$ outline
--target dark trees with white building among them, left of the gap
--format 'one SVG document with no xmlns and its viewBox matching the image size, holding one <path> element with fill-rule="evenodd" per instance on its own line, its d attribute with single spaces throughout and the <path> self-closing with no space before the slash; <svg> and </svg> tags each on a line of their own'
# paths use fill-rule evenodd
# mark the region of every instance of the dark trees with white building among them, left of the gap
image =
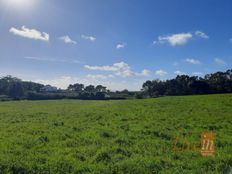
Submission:
<svg viewBox="0 0 232 174">
<path fill-rule="evenodd" d="M 51 90 L 53 89 L 53 90 Z M 46 99 L 107 99 L 110 91 L 102 85 L 70 84 L 67 89 L 57 89 L 50 85 L 22 81 L 5 76 L 0 78 L 0 100 L 46 100 Z"/>
</svg>

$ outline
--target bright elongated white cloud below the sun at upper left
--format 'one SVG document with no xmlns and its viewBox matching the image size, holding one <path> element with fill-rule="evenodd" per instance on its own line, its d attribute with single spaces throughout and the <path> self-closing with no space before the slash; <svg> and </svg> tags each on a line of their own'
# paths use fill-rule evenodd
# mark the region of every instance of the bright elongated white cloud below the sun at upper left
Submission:
<svg viewBox="0 0 232 174">
<path fill-rule="evenodd" d="M 25 26 L 22 26 L 21 29 L 17 28 L 10 28 L 10 33 L 13 33 L 14 35 L 29 38 L 29 39 L 35 39 L 35 40 L 42 40 L 42 41 L 49 41 L 49 34 L 45 32 L 40 32 L 36 29 L 29 29 Z"/>
</svg>

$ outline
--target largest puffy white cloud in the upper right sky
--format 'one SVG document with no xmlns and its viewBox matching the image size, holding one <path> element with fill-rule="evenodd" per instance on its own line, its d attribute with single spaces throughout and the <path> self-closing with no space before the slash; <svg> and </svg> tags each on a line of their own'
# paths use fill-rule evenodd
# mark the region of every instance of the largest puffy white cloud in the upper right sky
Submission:
<svg viewBox="0 0 232 174">
<path fill-rule="evenodd" d="M 191 33 L 178 33 L 168 36 L 159 36 L 158 41 L 154 41 L 153 44 L 157 43 L 169 43 L 171 46 L 185 45 L 193 35 Z"/>
</svg>

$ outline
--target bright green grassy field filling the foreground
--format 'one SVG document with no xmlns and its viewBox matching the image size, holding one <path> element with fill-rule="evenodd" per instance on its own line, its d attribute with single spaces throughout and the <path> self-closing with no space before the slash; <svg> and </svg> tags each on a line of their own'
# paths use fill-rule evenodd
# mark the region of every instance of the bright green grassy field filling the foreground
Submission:
<svg viewBox="0 0 232 174">
<path fill-rule="evenodd" d="M 215 133 L 214 157 L 188 149 Z M 179 137 L 174 152 L 173 144 Z M 232 172 L 232 95 L 0 102 L 0 173 Z"/>
</svg>

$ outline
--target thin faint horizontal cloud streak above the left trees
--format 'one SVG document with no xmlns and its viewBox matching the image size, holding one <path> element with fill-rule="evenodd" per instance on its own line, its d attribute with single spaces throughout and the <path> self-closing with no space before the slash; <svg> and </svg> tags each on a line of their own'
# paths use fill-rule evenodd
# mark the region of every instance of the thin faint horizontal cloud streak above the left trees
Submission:
<svg viewBox="0 0 232 174">
<path fill-rule="evenodd" d="M 76 63 L 82 64 L 83 62 L 79 60 L 70 60 L 70 59 L 57 59 L 57 58 L 48 58 L 48 57 L 24 57 L 24 59 L 34 60 L 34 61 L 45 61 L 45 62 L 58 62 L 58 63 Z"/>
</svg>

